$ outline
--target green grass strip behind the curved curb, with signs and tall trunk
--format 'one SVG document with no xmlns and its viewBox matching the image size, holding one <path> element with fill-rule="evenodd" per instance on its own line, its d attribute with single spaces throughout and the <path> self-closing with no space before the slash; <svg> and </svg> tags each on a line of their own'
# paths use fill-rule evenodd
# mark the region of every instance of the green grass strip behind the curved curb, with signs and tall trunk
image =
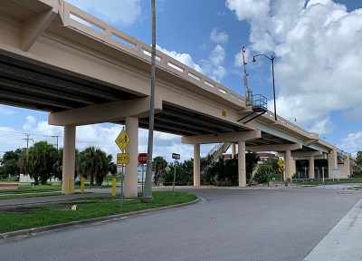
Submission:
<svg viewBox="0 0 362 261">
<path fill-rule="evenodd" d="M 155 200 L 150 203 L 141 203 L 140 198 L 124 200 L 123 208 L 120 208 L 120 198 L 111 196 L 77 198 L 74 199 L 76 201 L 52 205 L 0 208 L 0 233 L 167 207 L 197 198 L 191 193 L 175 192 L 175 198 L 172 199 L 172 191 L 154 191 L 152 196 Z M 77 210 L 71 210 L 73 205 L 77 205 Z"/>
</svg>

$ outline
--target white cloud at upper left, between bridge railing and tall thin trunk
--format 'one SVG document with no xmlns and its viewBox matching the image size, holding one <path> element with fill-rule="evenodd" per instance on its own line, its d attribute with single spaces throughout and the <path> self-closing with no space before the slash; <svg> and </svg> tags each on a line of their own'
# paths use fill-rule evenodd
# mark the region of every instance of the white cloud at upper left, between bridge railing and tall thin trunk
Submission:
<svg viewBox="0 0 362 261">
<path fill-rule="evenodd" d="M 110 24 L 134 24 L 141 17 L 141 0 L 68 0 L 71 5 L 83 9 Z"/>
</svg>

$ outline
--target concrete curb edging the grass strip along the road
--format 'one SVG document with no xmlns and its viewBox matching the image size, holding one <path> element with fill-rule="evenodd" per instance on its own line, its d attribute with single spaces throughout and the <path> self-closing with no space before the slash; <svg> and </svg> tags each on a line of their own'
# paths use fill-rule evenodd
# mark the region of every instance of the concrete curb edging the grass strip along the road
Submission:
<svg viewBox="0 0 362 261">
<path fill-rule="evenodd" d="M 62 224 L 56 224 L 56 225 L 50 225 L 50 226 L 44 226 L 44 227 L 33 227 L 33 228 L 27 228 L 27 229 L 23 229 L 23 230 L 5 232 L 5 233 L 0 234 L 0 244 L 5 243 L 6 241 L 10 241 L 10 240 L 16 240 L 16 238 L 22 239 L 24 237 L 35 237 L 38 234 L 58 231 L 58 230 L 67 229 L 70 227 L 86 226 L 89 224 L 94 224 L 94 223 L 99 223 L 99 222 L 118 221 L 123 218 L 137 217 L 137 216 L 141 216 L 141 215 L 145 215 L 145 214 L 153 213 L 153 212 L 157 212 L 157 211 L 164 211 L 164 210 L 172 209 L 172 208 L 182 208 L 182 207 L 194 205 L 194 204 L 200 202 L 201 199 L 202 198 L 198 197 L 194 201 L 181 203 L 181 204 L 177 204 L 177 205 L 172 205 L 172 206 L 167 206 L 167 207 L 149 208 L 149 209 L 145 209 L 145 210 L 117 214 L 117 215 L 112 215 L 112 216 L 107 216 L 107 217 L 90 218 L 90 219 L 72 221 L 72 222 L 68 222 L 68 223 L 62 223 Z"/>
</svg>

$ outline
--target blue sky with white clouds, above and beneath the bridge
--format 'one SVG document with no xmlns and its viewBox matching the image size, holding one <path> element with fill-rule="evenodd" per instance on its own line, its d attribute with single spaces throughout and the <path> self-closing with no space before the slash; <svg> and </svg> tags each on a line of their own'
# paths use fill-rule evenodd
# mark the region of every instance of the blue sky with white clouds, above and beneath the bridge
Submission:
<svg viewBox="0 0 362 261">
<path fill-rule="evenodd" d="M 144 43 L 151 43 L 146 0 L 69 0 Z M 156 0 L 157 49 L 244 95 L 242 45 L 248 85 L 276 111 L 338 149 L 362 150 L 362 1 L 359 0 Z M 157 75 L 156 75 L 157 77 Z M 0 105 L 0 156 L 48 140 L 62 147 L 63 130 L 48 114 Z M 296 119 L 296 121 L 294 120 Z M 122 126 L 77 127 L 76 147 L 96 146 L 113 155 Z M 32 134 L 26 136 L 25 134 Z M 35 135 L 36 134 L 36 135 Z M 138 152 L 147 152 L 148 131 L 139 130 Z M 26 138 L 32 140 L 24 140 Z M 193 146 L 176 135 L 155 132 L 153 156 L 193 158 Z M 201 156 L 213 144 L 201 146 Z"/>
</svg>

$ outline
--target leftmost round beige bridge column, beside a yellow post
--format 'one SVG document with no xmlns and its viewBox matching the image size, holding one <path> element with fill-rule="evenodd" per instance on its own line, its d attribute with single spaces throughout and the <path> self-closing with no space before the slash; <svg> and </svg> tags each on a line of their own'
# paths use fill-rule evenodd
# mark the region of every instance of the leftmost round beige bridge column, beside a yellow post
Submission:
<svg viewBox="0 0 362 261">
<path fill-rule="evenodd" d="M 75 125 L 64 126 L 64 144 L 62 153 L 62 194 L 68 194 L 68 182 L 71 180 L 71 194 L 74 193 L 75 169 Z"/>
</svg>

